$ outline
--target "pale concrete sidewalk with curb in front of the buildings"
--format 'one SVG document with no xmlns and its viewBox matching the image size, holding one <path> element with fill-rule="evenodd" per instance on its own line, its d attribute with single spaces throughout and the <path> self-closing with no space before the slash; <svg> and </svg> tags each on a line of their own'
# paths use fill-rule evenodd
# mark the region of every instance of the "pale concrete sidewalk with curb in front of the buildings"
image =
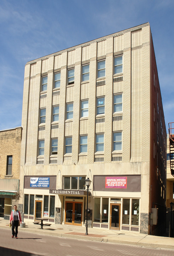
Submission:
<svg viewBox="0 0 174 256">
<path fill-rule="evenodd" d="M 47 226 L 43 226 L 43 229 L 41 229 L 40 225 L 35 225 L 33 222 L 26 221 L 25 223 L 25 228 L 19 227 L 19 234 L 20 231 L 26 231 L 43 235 L 174 250 L 174 238 L 172 237 L 152 236 L 137 232 L 97 228 L 88 228 L 88 235 L 85 235 L 86 228 L 84 226 L 51 224 L 49 228 Z M 0 218 L 0 228 L 10 229 L 9 220 Z"/>
</svg>

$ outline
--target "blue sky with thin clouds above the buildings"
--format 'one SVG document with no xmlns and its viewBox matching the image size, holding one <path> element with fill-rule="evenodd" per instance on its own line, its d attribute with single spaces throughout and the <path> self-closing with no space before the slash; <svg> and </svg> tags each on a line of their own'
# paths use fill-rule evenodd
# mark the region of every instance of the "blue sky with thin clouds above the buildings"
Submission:
<svg viewBox="0 0 174 256">
<path fill-rule="evenodd" d="M 0 130 L 21 126 L 28 61 L 146 22 L 168 132 L 174 122 L 174 0 L 0 0 Z"/>
</svg>

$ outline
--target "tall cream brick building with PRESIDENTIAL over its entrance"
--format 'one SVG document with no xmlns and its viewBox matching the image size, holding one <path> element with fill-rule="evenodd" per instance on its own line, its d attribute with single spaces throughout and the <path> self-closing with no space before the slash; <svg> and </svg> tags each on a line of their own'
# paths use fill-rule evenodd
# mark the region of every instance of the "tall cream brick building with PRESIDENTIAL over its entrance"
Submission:
<svg viewBox="0 0 174 256">
<path fill-rule="evenodd" d="M 85 225 L 89 177 L 89 226 L 162 230 L 166 130 L 149 23 L 28 62 L 22 127 L 25 219 Z"/>
</svg>

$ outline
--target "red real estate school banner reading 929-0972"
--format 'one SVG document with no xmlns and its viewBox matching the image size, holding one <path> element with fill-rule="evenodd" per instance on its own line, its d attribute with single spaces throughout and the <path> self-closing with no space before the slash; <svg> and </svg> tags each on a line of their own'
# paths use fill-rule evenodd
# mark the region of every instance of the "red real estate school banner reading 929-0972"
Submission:
<svg viewBox="0 0 174 256">
<path fill-rule="evenodd" d="M 106 177 L 105 188 L 127 188 L 127 177 Z"/>
</svg>

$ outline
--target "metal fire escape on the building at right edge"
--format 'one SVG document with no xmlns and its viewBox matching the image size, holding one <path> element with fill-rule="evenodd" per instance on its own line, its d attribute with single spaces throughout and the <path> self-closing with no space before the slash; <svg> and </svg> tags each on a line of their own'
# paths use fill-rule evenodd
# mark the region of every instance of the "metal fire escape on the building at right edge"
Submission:
<svg viewBox="0 0 174 256">
<path fill-rule="evenodd" d="M 174 176 L 174 122 L 169 123 L 170 171 Z"/>
</svg>

